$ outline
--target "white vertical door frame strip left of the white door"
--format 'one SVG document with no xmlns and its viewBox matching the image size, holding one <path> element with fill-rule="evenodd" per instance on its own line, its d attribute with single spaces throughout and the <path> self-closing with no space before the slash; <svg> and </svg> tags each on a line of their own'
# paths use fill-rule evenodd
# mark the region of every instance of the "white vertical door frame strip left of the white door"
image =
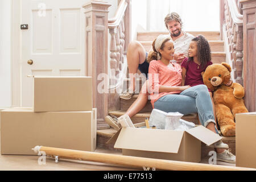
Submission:
<svg viewBox="0 0 256 182">
<path fill-rule="evenodd" d="M 21 35 L 20 5 L 22 0 L 11 0 L 11 106 L 21 104 Z"/>
</svg>

